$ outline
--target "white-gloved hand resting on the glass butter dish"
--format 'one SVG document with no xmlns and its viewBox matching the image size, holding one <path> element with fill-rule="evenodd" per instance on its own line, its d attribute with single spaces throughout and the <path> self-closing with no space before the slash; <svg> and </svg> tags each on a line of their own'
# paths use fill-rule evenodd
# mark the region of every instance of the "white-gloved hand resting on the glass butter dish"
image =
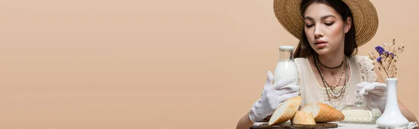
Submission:
<svg viewBox="0 0 419 129">
<path fill-rule="evenodd" d="M 385 83 L 368 83 L 362 82 L 356 85 L 360 89 L 360 94 L 367 95 L 368 92 L 378 96 L 387 96 L 387 85 Z"/>
</svg>

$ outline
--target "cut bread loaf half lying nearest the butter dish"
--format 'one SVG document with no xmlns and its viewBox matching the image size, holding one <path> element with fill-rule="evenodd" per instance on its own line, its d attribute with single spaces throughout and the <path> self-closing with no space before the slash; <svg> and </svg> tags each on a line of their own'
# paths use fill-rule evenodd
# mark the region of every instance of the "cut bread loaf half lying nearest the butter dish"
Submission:
<svg viewBox="0 0 419 129">
<path fill-rule="evenodd" d="M 309 103 L 302 107 L 301 111 L 312 112 L 316 122 L 343 121 L 345 119 L 342 112 L 324 103 Z"/>
</svg>

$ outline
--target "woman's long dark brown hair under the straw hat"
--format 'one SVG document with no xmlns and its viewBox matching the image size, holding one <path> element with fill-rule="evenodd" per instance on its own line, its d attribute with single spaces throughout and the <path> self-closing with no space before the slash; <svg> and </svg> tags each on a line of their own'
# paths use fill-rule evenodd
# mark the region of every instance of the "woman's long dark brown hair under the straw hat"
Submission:
<svg viewBox="0 0 419 129">
<path fill-rule="evenodd" d="M 311 3 L 324 3 L 325 5 L 332 7 L 339 13 L 344 22 L 346 22 L 346 17 L 351 17 L 351 29 L 349 29 L 348 33 L 345 34 L 344 53 L 346 56 L 351 56 L 358 53 L 358 45 L 355 41 L 355 23 L 353 20 L 352 12 L 346 5 L 346 3 L 344 3 L 344 1 L 341 0 L 302 0 L 300 6 L 300 14 L 302 17 L 304 17 L 305 9 Z M 298 43 L 297 48 L 295 49 L 294 57 L 307 58 L 309 55 L 317 54 L 316 51 L 314 51 L 314 49 L 311 48 L 309 40 L 307 40 L 307 35 L 305 34 L 304 30 L 302 31 L 301 35 L 302 39 L 300 39 L 300 42 Z"/>
</svg>

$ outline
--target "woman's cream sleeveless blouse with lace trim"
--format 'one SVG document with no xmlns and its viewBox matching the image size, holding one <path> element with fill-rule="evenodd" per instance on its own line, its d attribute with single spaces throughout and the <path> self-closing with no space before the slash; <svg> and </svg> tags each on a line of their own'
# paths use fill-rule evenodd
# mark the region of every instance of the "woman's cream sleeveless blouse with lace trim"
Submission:
<svg viewBox="0 0 419 129">
<path fill-rule="evenodd" d="M 302 96 L 302 106 L 308 103 L 325 103 L 341 110 L 346 105 L 355 103 L 356 85 L 364 81 L 373 83 L 376 81 L 376 74 L 373 71 L 374 65 L 368 56 L 353 55 L 349 59 L 351 76 L 348 78 L 348 84 L 341 97 L 333 99 L 328 97 L 323 82 L 318 82 L 313 70 L 311 69 L 307 58 L 295 58 L 295 64 L 298 69 L 298 84 L 301 86 L 300 94 Z M 341 86 L 334 89 L 335 92 L 341 90 Z M 365 96 L 367 103 L 375 105 L 381 112 L 384 111 L 385 97 L 368 94 Z"/>
</svg>

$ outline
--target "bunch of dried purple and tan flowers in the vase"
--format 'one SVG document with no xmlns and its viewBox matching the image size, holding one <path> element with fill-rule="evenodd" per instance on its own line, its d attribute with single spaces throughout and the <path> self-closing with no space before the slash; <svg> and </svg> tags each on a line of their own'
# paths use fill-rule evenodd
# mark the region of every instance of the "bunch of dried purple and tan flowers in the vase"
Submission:
<svg viewBox="0 0 419 129">
<path fill-rule="evenodd" d="M 384 47 L 388 47 L 388 51 L 385 51 L 385 49 L 382 46 L 376 46 L 375 50 L 378 53 L 378 58 L 372 53 L 371 51 L 368 52 L 369 58 L 371 60 L 375 60 L 376 62 L 373 63 L 373 65 L 376 65 L 378 67 L 379 71 L 385 71 L 385 74 L 388 78 L 395 78 L 397 75 L 397 66 L 396 62 L 399 53 L 402 53 L 404 51 L 404 46 L 400 45 L 397 49 L 394 48 L 396 44 L 396 40 L 393 39 L 392 43 L 385 42 L 383 44 Z"/>
</svg>

